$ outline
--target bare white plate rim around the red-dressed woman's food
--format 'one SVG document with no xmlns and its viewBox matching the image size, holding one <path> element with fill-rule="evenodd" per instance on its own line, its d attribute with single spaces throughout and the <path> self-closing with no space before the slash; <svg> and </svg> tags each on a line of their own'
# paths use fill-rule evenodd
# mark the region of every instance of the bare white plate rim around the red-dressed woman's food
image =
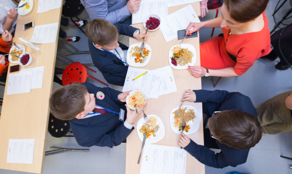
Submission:
<svg viewBox="0 0 292 174">
<path fill-rule="evenodd" d="M 188 64 L 193 66 L 195 63 L 196 63 L 196 49 L 194 46 L 190 45 L 190 44 L 181 44 L 181 48 L 187 48 L 189 51 L 193 52 L 194 56 L 192 58 L 192 62 L 191 63 L 188 63 L 188 64 L 185 64 L 184 66 L 180 66 L 179 64 L 177 64 L 177 66 L 174 66 L 172 63 L 171 63 L 171 59 L 170 57 L 172 57 L 172 49 L 175 47 L 175 46 L 178 46 L 178 45 L 174 45 L 172 46 L 170 49 L 169 49 L 169 53 L 168 53 L 168 61 L 169 61 L 169 64 L 172 68 L 174 69 L 178 69 L 178 70 L 182 70 L 182 69 L 188 69 Z"/>
</svg>

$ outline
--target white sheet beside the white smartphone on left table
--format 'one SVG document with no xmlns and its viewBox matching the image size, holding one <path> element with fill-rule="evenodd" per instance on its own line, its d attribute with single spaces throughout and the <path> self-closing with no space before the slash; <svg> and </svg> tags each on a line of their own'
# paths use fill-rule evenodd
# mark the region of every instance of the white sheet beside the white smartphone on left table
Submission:
<svg viewBox="0 0 292 174">
<path fill-rule="evenodd" d="M 54 43 L 57 39 L 59 22 L 35 26 L 30 42 L 36 44 Z"/>
</svg>

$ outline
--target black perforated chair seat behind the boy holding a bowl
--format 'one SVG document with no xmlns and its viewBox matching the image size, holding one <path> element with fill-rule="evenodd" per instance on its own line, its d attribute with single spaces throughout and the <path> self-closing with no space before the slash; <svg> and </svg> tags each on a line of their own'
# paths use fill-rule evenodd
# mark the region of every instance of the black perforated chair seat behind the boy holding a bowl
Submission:
<svg viewBox="0 0 292 174">
<path fill-rule="evenodd" d="M 49 124 L 48 124 L 48 131 L 51 136 L 60 138 L 60 137 L 74 137 L 73 135 L 66 135 L 70 131 L 70 124 L 67 120 L 60 120 L 53 116 L 50 113 L 49 116 Z"/>
</svg>

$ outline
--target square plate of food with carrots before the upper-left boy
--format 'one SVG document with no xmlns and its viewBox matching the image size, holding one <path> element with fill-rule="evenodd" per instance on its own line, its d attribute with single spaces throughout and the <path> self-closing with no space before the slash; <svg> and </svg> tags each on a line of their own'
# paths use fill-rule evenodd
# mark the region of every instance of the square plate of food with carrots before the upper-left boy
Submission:
<svg viewBox="0 0 292 174">
<path fill-rule="evenodd" d="M 151 47 L 148 44 L 144 45 L 144 49 L 140 51 L 142 43 L 136 43 L 129 46 L 127 52 L 127 63 L 133 67 L 144 67 L 150 61 Z"/>
</svg>

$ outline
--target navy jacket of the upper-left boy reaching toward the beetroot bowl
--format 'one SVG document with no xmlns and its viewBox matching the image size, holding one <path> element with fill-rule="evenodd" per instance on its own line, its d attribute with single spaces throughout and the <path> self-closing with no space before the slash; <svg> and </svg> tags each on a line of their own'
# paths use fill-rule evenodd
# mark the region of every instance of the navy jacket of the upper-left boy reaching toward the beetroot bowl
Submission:
<svg viewBox="0 0 292 174">
<path fill-rule="evenodd" d="M 136 28 L 126 24 L 115 24 L 120 35 L 133 37 Z M 95 48 L 92 41 L 88 40 L 89 50 L 92 57 L 93 64 L 104 76 L 110 84 L 123 86 L 128 71 L 126 66 L 120 58 L 110 52 Z M 123 48 L 122 48 L 123 49 Z"/>
</svg>

